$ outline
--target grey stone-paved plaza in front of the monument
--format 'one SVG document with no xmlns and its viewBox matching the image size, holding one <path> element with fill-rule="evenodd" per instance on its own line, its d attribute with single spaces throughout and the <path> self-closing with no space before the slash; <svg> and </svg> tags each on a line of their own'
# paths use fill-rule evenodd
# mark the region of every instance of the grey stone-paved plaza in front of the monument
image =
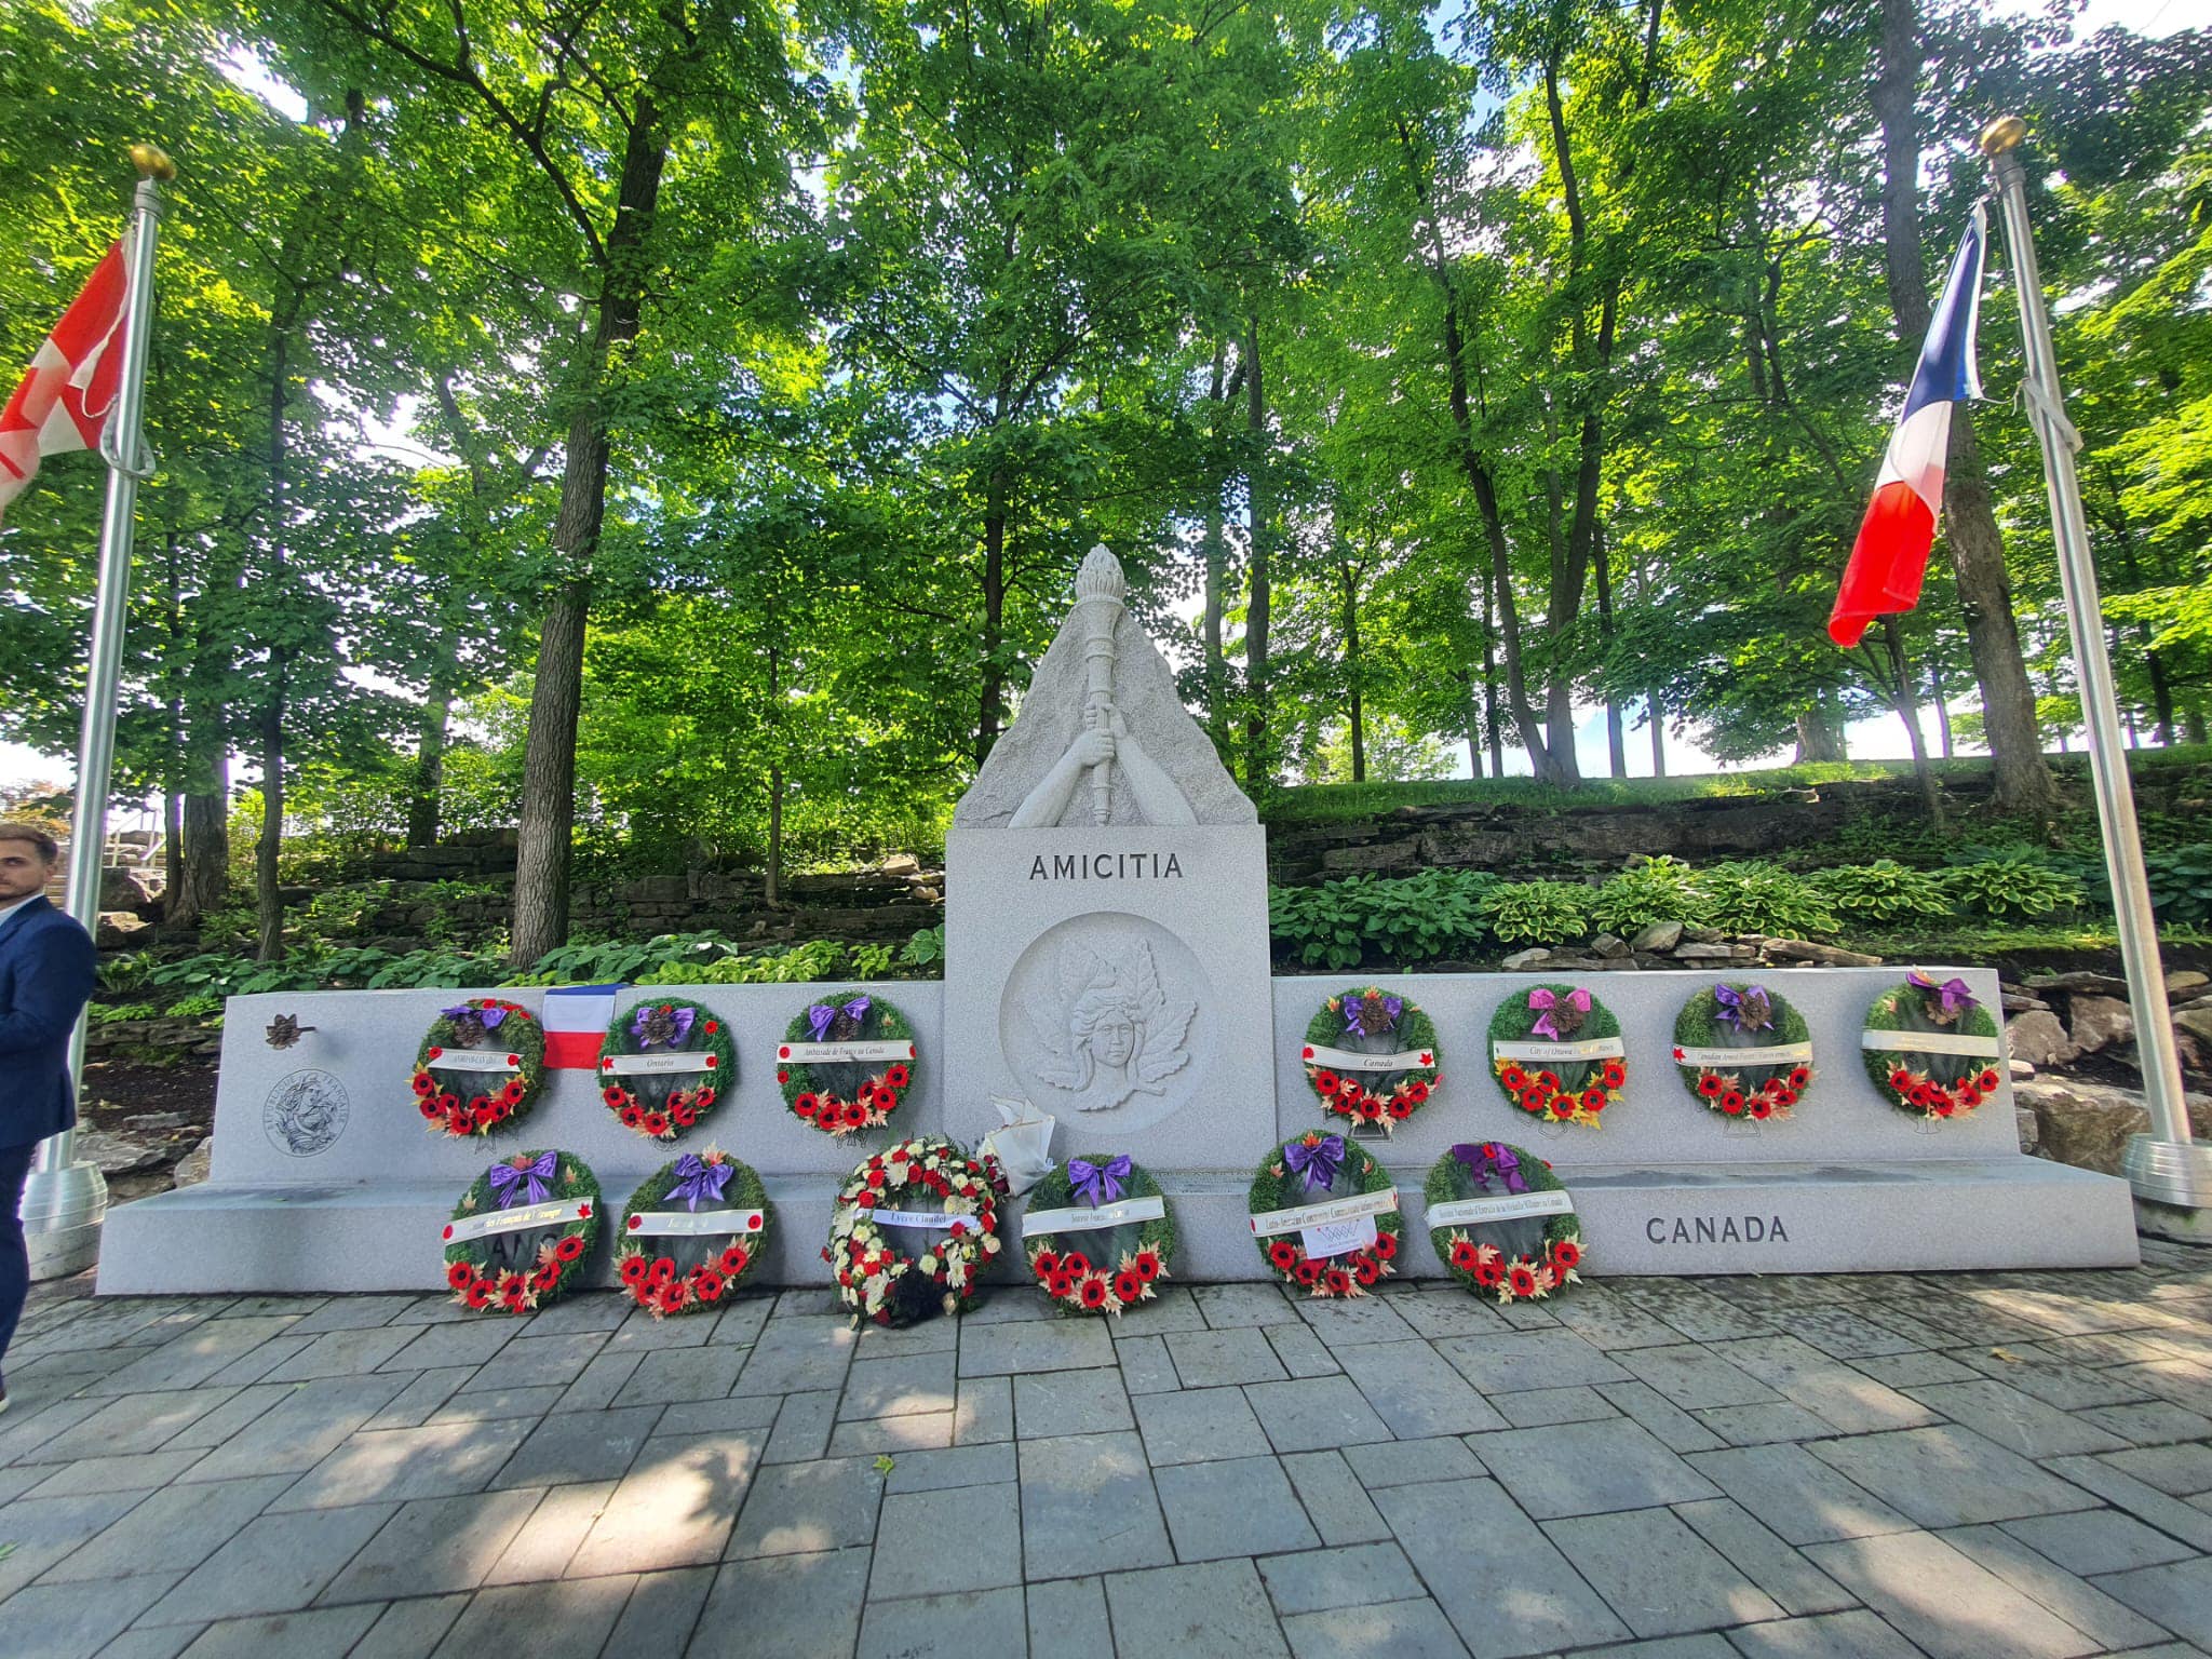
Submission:
<svg viewBox="0 0 2212 1659">
<path fill-rule="evenodd" d="M 863 1332 L 44 1285 L 0 1652 L 2201 1652 L 2212 1250 L 2143 1256 Z"/>
</svg>

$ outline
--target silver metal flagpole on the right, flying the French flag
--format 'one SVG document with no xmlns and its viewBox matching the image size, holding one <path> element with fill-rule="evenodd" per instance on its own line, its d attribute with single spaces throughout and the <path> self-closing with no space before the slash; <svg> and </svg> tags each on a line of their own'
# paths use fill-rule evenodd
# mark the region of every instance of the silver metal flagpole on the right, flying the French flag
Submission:
<svg viewBox="0 0 2212 1659">
<path fill-rule="evenodd" d="M 2020 164 L 2026 122 L 2004 115 L 1982 131 L 1982 155 L 2004 208 L 2004 239 L 2013 250 L 2013 285 L 2020 292 L 2020 336 L 2028 354 L 2022 396 L 2035 438 L 2044 449 L 2044 482 L 2051 491 L 2051 531 L 2059 551 L 2059 584 L 2066 593 L 2066 626 L 2073 633 L 2081 717 L 2088 723 L 2088 763 L 2097 783 L 2097 818 L 2104 827 L 2104 867 L 2112 878 L 2112 914 L 2119 920 L 2119 958 L 2128 973 L 2135 1009 L 2135 1044 L 2143 1064 L 2143 1097 L 2152 1135 L 2135 1135 L 2121 1170 L 2150 1230 L 2194 1234 L 2194 1214 L 2161 1214 L 2141 1203 L 2197 1212 L 2212 1206 L 2212 1146 L 2190 1139 L 2190 1115 L 2181 1086 L 2181 1055 L 2166 1009 L 2166 967 L 2159 962 L 2157 918 L 2143 876 L 2143 843 L 2135 830 L 2135 787 L 2128 781 L 2126 748 L 2119 737 L 2119 699 L 2112 690 L 2112 657 L 2104 644 L 2104 611 L 2097 599 L 2097 566 L 2088 551 L 2088 520 L 2081 513 L 2081 482 L 2075 449 L 2081 434 L 2066 418 L 2057 356 L 2051 349 L 2051 319 L 2035 270 L 2035 239 L 2028 230 L 2028 186 Z"/>
</svg>

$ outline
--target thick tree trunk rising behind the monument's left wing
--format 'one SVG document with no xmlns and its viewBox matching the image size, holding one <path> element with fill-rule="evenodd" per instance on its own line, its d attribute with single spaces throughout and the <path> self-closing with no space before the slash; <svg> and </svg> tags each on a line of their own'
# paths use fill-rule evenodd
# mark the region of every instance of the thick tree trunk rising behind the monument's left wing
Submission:
<svg viewBox="0 0 2212 1659">
<path fill-rule="evenodd" d="M 591 560 L 606 520 L 606 376 L 613 349 L 637 336 L 644 243 L 659 206 L 668 139 L 641 97 L 622 157 L 615 228 L 599 270 L 599 321 L 582 367 L 562 460 L 553 549 L 566 566 L 538 633 L 531 728 L 522 748 L 522 821 L 515 847 L 515 931 L 509 962 L 526 969 L 568 938 L 568 858 L 575 838 L 575 723 L 584 703 L 584 628 Z"/>
</svg>

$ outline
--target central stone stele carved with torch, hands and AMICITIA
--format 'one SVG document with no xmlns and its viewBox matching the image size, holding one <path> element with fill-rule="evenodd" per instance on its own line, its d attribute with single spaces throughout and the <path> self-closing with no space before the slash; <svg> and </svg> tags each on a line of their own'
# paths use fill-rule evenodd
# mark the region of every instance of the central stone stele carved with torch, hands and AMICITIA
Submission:
<svg viewBox="0 0 2212 1659">
<path fill-rule="evenodd" d="M 947 1128 L 1234 1168 L 1274 1133 L 1267 849 L 1097 546 L 945 843 Z M 1139 1135 L 1141 1130 L 1141 1135 Z"/>
</svg>

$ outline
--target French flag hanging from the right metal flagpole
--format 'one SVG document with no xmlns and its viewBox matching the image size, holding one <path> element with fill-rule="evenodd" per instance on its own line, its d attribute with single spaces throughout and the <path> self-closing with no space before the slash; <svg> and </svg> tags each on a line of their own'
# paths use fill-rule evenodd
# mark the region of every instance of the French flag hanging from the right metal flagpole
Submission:
<svg viewBox="0 0 2212 1659">
<path fill-rule="evenodd" d="M 1929 323 L 1927 345 L 1913 389 L 1905 394 L 1905 416 L 1889 434 L 1882 476 L 1874 482 L 1874 500 L 1851 542 L 1851 560 L 1843 566 L 1843 588 L 1827 617 L 1827 637 L 1849 650 L 1867 633 L 1867 624 L 1893 611 L 1920 604 L 1920 580 L 1936 544 L 1936 520 L 1942 515 L 1942 469 L 1951 451 L 1951 405 L 1982 396 L 1982 378 L 1973 367 L 1973 332 L 1982 314 L 1982 248 L 1989 226 L 1975 206 L 1966 239 L 1951 261 L 1942 301 Z"/>
</svg>

